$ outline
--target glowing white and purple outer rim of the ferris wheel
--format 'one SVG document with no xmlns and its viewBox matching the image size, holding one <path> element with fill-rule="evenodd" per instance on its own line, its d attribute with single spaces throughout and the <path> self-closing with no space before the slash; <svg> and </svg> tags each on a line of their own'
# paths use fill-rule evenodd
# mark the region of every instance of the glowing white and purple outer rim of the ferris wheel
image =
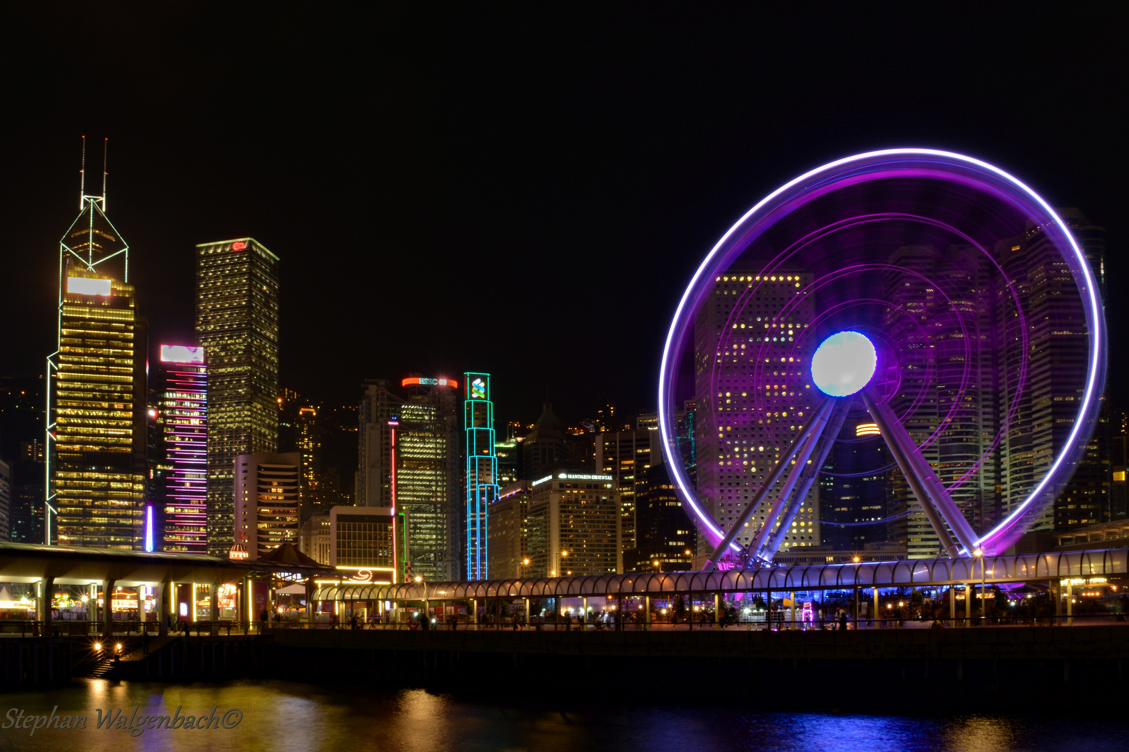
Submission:
<svg viewBox="0 0 1129 752">
<path fill-rule="evenodd" d="M 974 157 L 969 157 L 966 154 L 960 154 L 952 151 L 944 151 L 939 149 L 921 149 L 921 148 L 882 149 L 876 151 L 863 152 L 850 157 L 844 157 L 842 159 L 837 159 L 834 161 L 822 165 L 821 167 L 817 167 L 813 170 L 808 170 L 807 172 L 804 172 L 803 175 L 796 178 L 793 178 L 791 180 L 784 184 L 782 186 L 780 186 L 779 188 L 767 195 L 764 198 L 759 201 L 752 209 L 750 209 L 736 222 L 734 222 L 734 224 L 725 232 L 725 235 L 723 235 L 721 238 L 714 245 L 709 254 L 706 255 L 706 258 L 698 266 L 698 269 L 691 277 L 690 283 L 686 285 L 685 291 L 683 292 L 682 298 L 679 301 L 679 306 L 675 309 L 674 319 L 671 324 L 671 328 L 667 331 L 666 340 L 664 342 L 663 345 L 663 359 L 659 365 L 659 375 L 658 375 L 658 427 L 663 440 L 662 441 L 663 454 L 665 461 L 667 462 L 667 466 L 671 468 L 672 471 L 671 475 L 673 476 L 674 486 L 675 489 L 677 490 L 677 495 L 682 498 L 684 503 L 690 505 L 690 508 L 693 512 L 692 521 L 695 523 L 695 527 L 698 524 L 704 525 L 706 530 L 702 531 L 701 528 L 699 528 L 699 531 L 703 532 L 703 534 L 706 534 L 707 538 L 710 538 L 715 546 L 718 542 L 720 542 L 724 533 L 717 529 L 715 521 L 711 520 L 707 514 L 704 514 L 704 511 L 699 507 L 698 499 L 694 497 L 693 493 L 690 492 L 691 488 L 690 479 L 686 476 L 685 468 L 683 467 L 682 463 L 681 451 L 676 452 L 676 444 L 675 444 L 676 436 L 674 437 L 674 440 L 672 440 L 671 432 L 668 431 L 667 426 L 671 418 L 671 414 L 666 401 L 667 387 L 669 387 L 671 399 L 672 399 L 669 408 L 674 407 L 673 405 L 674 389 L 673 389 L 673 383 L 671 382 L 671 378 L 668 377 L 668 370 L 672 369 L 676 370 L 676 366 L 674 366 L 674 364 L 671 363 L 671 356 L 673 347 L 676 346 L 675 344 L 676 339 L 681 339 L 685 334 L 686 322 L 683 322 L 682 319 L 685 315 L 688 299 L 690 298 L 691 293 L 698 289 L 698 285 L 701 282 L 702 276 L 707 273 L 707 271 L 712 268 L 714 264 L 717 260 L 718 254 L 723 249 L 727 248 L 727 246 L 729 246 L 732 239 L 735 237 L 736 233 L 738 233 L 738 231 L 745 228 L 750 219 L 756 216 L 756 214 L 762 209 L 769 206 L 776 198 L 787 193 L 789 189 L 796 187 L 797 185 L 800 185 L 821 174 L 832 172 L 840 167 L 854 162 L 873 160 L 883 157 L 900 157 L 900 156 L 934 157 L 934 158 L 952 160 L 954 162 L 963 162 L 966 166 L 972 166 L 981 170 L 995 174 L 997 177 L 1003 178 L 1005 183 L 1010 184 L 1015 188 L 1018 188 L 1019 192 L 1026 194 L 1026 196 L 1030 200 L 1033 200 L 1047 213 L 1047 215 L 1053 220 L 1054 224 L 1058 227 L 1062 236 L 1069 242 L 1070 250 L 1075 255 L 1075 258 L 1077 260 L 1077 266 L 1082 272 L 1085 281 L 1084 286 L 1083 285 L 1076 285 L 1076 286 L 1079 287 L 1079 292 L 1085 293 L 1085 295 L 1083 297 L 1083 301 L 1087 318 L 1086 324 L 1087 328 L 1089 329 L 1089 353 L 1087 357 L 1088 366 L 1086 372 L 1085 395 L 1082 399 L 1082 405 L 1079 406 L 1078 412 L 1075 415 L 1074 427 L 1071 428 L 1070 435 L 1065 444 L 1068 451 L 1060 452 L 1056 457 L 1054 462 L 1048 469 L 1048 471 L 1040 480 L 1040 483 L 1035 486 L 1034 489 L 1032 489 L 1032 492 L 1027 495 L 1027 497 L 1018 506 L 1015 507 L 1015 510 L 1013 510 L 1004 520 L 1001 520 L 998 524 L 996 524 L 996 527 L 994 527 L 991 530 L 980 536 L 980 538 L 977 541 L 979 547 L 981 548 L 992 547 L 994 541 L 1005 538 L 1009 532 L 1012 532 L 1013 528 L 1016 524 L 1018 524 L 1023 520 L 1024 515 L 1031 511 L 1033 502 L 1043 495 L 1043 493 L 1045 492 L 1047 484 L 1051 479 L 1054 479 L 1056 476 L 1060 472 L 1060 465 L 1065 461 L 1067 453 L 1069 453 L 1069 448 L 1075 446 L 1076 442 L 1079 440 L 1080 436 L 1079 432 L 1084 430 L 1085 431 L 1092 430 L 1093 418 L 1095 417 L 1094 414 L 1096 413 L 1097 404 L 1100 400 L 1101 387 L 1103 386 L 1105 378 L 1104 363 L 1105 363 L 1105 348 L 1108 346 L 1105 340 L 1105 321 L 1102 312 L 1101 301 L 1097 299 L 1096 294 L 1097 284 L 1096 281 L 1094 280 L 1093 272 L 1089 268 L 1089 263 L 1086 260 L 1085 254 L 1078 247 L 1078 242 L 1077 240 L 1075 240 L 1074 233 L 1071 233 L 1070 230 L 1066 227 L 1066 224 L 1062 222 L 1062 219 L 1058 215 L 1054 209 L 1050 204 L 1048 204 L 1047 201 L 1044 201 L 1043 197 L 1040 196 L 1038 193 L 1035 193 L 1030 186 L 1027 186 L 1025 183 L 1023 183 L 1015 176 L 1010 175 L 1009 172 L 996 167 L 995 165 L 977 159 Z M 739 548 L 741 547 L 736 542 L 730 543 L 730 550 L 737 551 L 739 550 Z"/>
</svg>

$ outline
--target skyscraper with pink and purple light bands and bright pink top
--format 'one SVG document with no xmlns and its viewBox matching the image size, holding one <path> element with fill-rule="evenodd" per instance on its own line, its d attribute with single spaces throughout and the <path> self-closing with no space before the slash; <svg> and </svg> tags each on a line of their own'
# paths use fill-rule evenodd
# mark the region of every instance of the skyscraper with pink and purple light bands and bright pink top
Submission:
<svg viewBox="0 0 1129 752">
<path fill-rule="evenodd" d="M 160 550 L 208 552 L 208 366 L 203 347 L 161 345 L 149 498 L 163 514 Z"/>
</svg>

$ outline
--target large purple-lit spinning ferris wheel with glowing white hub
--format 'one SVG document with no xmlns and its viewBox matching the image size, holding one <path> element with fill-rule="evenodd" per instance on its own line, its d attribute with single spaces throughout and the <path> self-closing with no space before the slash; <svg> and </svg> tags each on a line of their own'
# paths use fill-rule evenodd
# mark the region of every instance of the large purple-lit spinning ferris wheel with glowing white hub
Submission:
<svg viewBox="0 0 1129 752">
<path fill-rule="evenodd" d="M 659 428 L 707 570 L 817 545 L 813 485 L 874 433 L 893 461 L 849 475 L 889 478 L 904 508 L 860 524 L 910 525 L 916 558 L 1003 554 L 1049 527 L 1104 369 L 1097 283 L 1045 201 L 977 159 L 876 151 L 780 187 L 709 253 L 666 339 Z M 697 488 L 674 425 L 692 397 Z"/>
</svg>

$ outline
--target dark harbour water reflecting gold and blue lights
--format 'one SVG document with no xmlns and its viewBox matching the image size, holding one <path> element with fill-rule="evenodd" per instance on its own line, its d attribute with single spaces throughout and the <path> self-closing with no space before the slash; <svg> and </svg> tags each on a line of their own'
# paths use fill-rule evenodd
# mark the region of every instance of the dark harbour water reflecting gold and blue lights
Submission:
<svg viewBox="0 0 1129 752">
<path fill-rule="evenodd" d="M 519 681 L 515 678 L 515 681 Z M 594 678 L 594 681 L 599 681 Z M 813 689 L 816 689 L 813 687 Z M 380 691 L 285 681 L 158 684 L 80 680 L 63 689 L 0 695 L 2 750 L 375 750 L 378 752 L 1113 752 L 1129 749 L 1129 719 L 1042 714 L 881 715 L 882 692 L 866 692 L 875 715 L 758 711 L 747 706 L 663 705 L 660 687 L 630 687 L 622 704 L 584 697 L 539 701 L 527 692 L 491 700 L 473 691 Z M 653 692 L 646 704 L 632 696 Z M 514 699 L 520 698 L 520 699 Z M 28 716 L 86 717 L 86 728 L 14 728 Z M 15 711 L 12 711 L 15 709 Z M 19 718 L 24 711 L 25 720 Z M 98 710 L 103 727 L 98 728 Z M 115 727 L 107 714 L 115 710 Z M 240 711 L 239 715 L 230 710 Z M 148 716 L 203 716 L 210 727 L 149 728 Z M 131 732 L 125 727 L 133 724 Z M 222 725 L 230 725 L 224 728 Z M 35 722 L 30 722 L 32 726 Z M 195 722 L 192 723 L 195 726 Z M 220 726 L 220 727 L 217 727 Z"/>
</svg>

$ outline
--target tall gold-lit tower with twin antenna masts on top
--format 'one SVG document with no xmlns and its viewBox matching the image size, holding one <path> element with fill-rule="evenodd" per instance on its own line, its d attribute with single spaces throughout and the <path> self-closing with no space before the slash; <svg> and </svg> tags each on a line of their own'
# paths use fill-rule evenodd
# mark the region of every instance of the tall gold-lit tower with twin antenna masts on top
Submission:
<svg viewBox="0 0 1129 752">
<path fill-rule="evenodd" d="M 86 192 L 59 241 L 58 346 L 47 356 L 44 542 L 140 549 L 146 474 L 146 320 L 129 244 Z"/>
</svg>

